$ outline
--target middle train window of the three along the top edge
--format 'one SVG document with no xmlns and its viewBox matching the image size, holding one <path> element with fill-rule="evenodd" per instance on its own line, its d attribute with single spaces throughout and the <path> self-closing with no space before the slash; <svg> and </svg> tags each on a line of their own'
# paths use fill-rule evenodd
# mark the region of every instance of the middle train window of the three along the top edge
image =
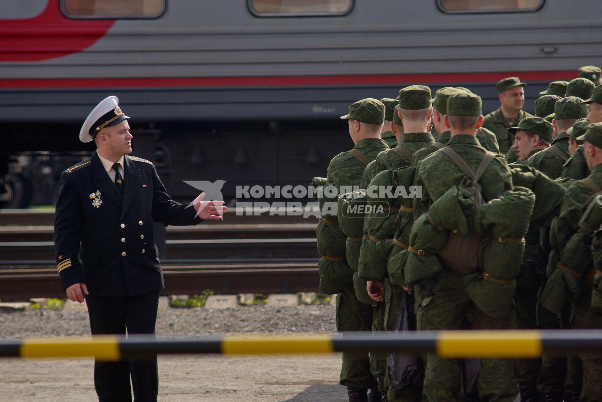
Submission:
<svg viewBox="0 0 602 402">
<path fill-rule="evenodd" d="M 349 13 L 353 0 L 248 0 L 258 17 L 342 16 Z"/>
</svg>

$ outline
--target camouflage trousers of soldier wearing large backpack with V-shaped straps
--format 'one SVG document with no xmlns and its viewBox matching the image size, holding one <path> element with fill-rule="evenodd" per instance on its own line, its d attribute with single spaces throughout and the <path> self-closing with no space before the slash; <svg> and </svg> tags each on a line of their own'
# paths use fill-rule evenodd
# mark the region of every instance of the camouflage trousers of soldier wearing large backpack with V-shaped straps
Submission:
<svg viewBox="0 0 602 402">
<path fill-rule="evenodd" d="M 516 316 L 509 311 L 504 318 L 484 314 L 464 290 L 462 276 L 444 268 L 441 289 L 421 302 L 418 308 L 418 330 L 460 330 L 465 317 L 474 329 L 512 329 Z M 514 360 L 482 359 L 477 389 L 482 401 L 511 402 L 518 394 L 514 377 Z M 423 401 L 457 401 L 460 391 L 460 366 L 457 359 L 444 359 L 428 354 L 424 373 Z"/>
</svg>

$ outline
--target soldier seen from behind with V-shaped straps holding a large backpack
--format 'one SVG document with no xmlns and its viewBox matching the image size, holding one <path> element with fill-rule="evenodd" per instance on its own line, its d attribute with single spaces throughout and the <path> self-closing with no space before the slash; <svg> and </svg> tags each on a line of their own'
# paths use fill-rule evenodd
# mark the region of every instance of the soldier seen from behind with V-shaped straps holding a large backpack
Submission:
<svg viewBox="0 0 602 402">
<path fill-rule="evenodd" d="M 457 93 L 448 98 L 445 124 L 450 129 L 451 147 L 468 166 L 477 170 L 486 150 L 476 140 L 477 128 L 483 122 L 482 101 L 470 93 Z M 506 132 L 507 134 L 507 132 Z M 414 200 L 417 217 L 428 211 L 430 205 L 449 188 L 460 184 L 465 174 L 444 152 L 434 152 L 418 165 L 415 184 L 421 186 L 422 198 Z M 483 173 L 479 184 L 485 201 L 500 197 L 512 188 L 512 178 L 506 159 L 497 155 Z M 418 330 L 459 330 L 462 320 L 470 316 L 475 329 L 510 329 L 514 312 L 503 318 L 491 317 L 481 311 L 464 289 L 462 275 L 443 267 L 444 282 L 433 297 L 425 298 L 418 307 Z M 487 401 L 512 401 L 518 394 L 509 359 L 482 359 L 479 376 L 479 397 Z M 425 370 L 423 401 L 455 401 L 460 388 L 458 360 L 444 359 L 429 354 Z"/>
</svg>

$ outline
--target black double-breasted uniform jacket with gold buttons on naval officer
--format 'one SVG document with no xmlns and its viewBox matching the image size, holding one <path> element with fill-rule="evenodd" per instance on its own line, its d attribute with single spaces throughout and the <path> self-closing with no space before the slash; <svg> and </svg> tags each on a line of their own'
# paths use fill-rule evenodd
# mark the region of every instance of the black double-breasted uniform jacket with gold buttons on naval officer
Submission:
<svg viewBox="0 0 602 402">
<path fill-rule="evenodd" d="M 123 197 L 98 153 L 61 175 L 54 249 L 63 289 L 85 283 L 95 296 L 163 289 L 153 221 L 166 226 L 201 221 L 192 206 L 170 200 L 151 162 L 125 156 L 123 164 Z"/>
</svg>

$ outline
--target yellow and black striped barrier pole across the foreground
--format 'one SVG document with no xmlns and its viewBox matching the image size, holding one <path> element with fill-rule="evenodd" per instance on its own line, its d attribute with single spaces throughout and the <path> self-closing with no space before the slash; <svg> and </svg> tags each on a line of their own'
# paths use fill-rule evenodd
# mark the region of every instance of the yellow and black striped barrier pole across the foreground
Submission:
<svg viewBox="0 0 602 402">
<path fill-rule="evenodd" d="M 0 341 L 0 357 L 95 357 L 144 359 L 157 354 L 311 354 L 342 351 L 437 353 L 442 357 L 527 358 L 546 353 L 602 353 L 602 330 L 498 330 L 341 335 L 243 336 L 155 339 L 154 336 L 100 335 Z"/>
</svg>

